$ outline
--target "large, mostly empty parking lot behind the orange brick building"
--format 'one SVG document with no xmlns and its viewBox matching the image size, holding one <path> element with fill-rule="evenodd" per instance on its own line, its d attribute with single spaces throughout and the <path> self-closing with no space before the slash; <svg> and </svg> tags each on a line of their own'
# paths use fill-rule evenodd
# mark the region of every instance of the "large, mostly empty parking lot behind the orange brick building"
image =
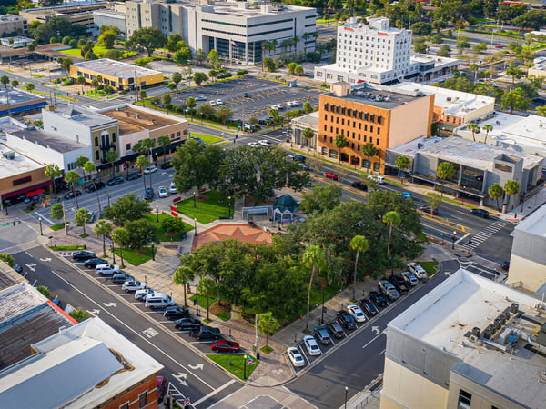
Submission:
<svg viewBox="0 0 546 409">
<path fill-rule="evenodd" d="M 244 96 L 248 94 L 248 96 Z M 279 110 L 282 115 L 288 109 L 301 108 L 308 101 L 311 105 L 319 104 L 317 90 L 279 85 L 276 81 L 257 78 L 241 78 L 217 84 L 204 85 L 172 95 L 174 105 L 181 105 L 187 98 L 205 97 L 207 101 L 197 101 L 197 107 L 205 102 L 221 100 L 224 105 L 233 110 L 234 118 L 248 119 L 255 116 L 258 119 L 267 118 L 272 105 L 283 105 Z M 298 101 L 299 106 L 289 108 L 288 102 Z"/>
</svg>

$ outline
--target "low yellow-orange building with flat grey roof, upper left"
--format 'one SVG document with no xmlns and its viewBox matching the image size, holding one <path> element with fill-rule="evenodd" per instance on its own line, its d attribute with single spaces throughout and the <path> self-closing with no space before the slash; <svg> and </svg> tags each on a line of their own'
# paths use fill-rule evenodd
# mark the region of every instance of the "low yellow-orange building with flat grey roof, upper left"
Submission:
<svg viewBox="0 0 546 409">
<path fill-rule="evenodd" d="M 108 58 L 80 61 L 70 65 L 70 77 L 76 80 L 83 76 L 86 79 L 86 84 L 91 84 L 98 75 L 102 77 L 102 84 L 110 85 L 117 90 L 135 89 L 135 87 L 163 82 L 163 73 L 160 71 Z"/>
</svg>

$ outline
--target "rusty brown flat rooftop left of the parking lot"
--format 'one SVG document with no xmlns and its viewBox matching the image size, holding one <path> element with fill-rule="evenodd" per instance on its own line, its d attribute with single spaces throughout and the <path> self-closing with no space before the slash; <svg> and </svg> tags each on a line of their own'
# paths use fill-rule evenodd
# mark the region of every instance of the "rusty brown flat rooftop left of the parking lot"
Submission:
<svg viewBox="0 0 546 409">
<path fill-rule="evenodd" d="M 151 112 L 137 109 L 135 106 L 123 106 L 100 112 L 116 119 L 119 126 L 119 135 L 128 135 L 145 129 L 153 130 L 167 125 L 176 125 L 184 120 L 176 121 L 167 116 L 156 115 Z"/>
</svg>

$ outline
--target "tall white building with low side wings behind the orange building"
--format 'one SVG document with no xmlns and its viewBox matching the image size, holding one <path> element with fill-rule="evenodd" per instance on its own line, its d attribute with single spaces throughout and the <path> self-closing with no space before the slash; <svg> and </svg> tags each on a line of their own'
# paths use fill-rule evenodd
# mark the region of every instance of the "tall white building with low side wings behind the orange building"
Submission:
<svg viewBox="0 0 546 409">
<path fill-rule="evenodd" d="M 327 83 L 393 84 L 402 79 L 430 81 L 450 75 L 452 58 L 412 55 L 411 30 L 390 26 L 386 17 L 351 17 L 338 27 L 336 63 L 315 67 L 315 79 Z"/>
</svg>

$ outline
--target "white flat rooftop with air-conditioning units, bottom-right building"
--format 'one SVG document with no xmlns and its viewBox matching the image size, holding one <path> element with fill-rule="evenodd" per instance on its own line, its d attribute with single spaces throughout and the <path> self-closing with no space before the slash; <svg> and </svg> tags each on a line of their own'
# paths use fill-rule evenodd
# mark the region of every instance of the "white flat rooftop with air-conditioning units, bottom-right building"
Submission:
<svg viewBox="0 0 546 409">
<path fill-rule="evenodd" d="M 478 342 L 470 340 L 474 327 L 483 334 L 511 304 L 518 304 L 519 312 L 510 314 L 498 333 L 487 341 L 483 335 Z M 536 336 L 546 321 L 537 314 L 536 304 L 539 300 L 530 295 L 460 269 L 388 326 L 458 357 L 460 362 L 451 368 L 454 373 L 525 407 L 539 408 L 546 402 L 541 375 L 546 367 L 546 354 L 527 340 L 528 335 Z M 511 339 L 513 349 L 503 352 L 506 343 L 497 334 L 506 329 L 515 340 Z"/>
</svg>

